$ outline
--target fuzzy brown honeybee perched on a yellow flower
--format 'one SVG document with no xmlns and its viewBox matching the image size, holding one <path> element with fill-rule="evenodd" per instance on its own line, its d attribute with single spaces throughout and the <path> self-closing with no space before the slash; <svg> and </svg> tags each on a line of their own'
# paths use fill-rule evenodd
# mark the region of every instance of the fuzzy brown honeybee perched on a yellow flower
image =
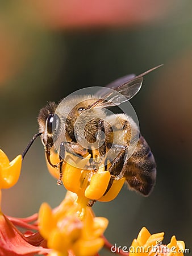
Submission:
<svg viewBox="0 0 192 256">
<path fill-rule="evenodd" d="M 106 108 L 130 100 L 139 92 L 143 76 L 160 66 L 139 76 L 128 75 L 115 80 L 99 92 L 99 97 L 95 94 L 78 95 L 66 97 L 60 104 L 48 102 L 39 112 L 39 133 L 31 139 L 22 157 L 40 136 L 49 164 L 59 168 L 57 184 L 62 183 L 62 164 L 66 152 L 80 157 L 89 152 L 92 155 L 90 168 L 97 171 L 104 164 L 105 170 L 111 174 L 104 195 L 114 179 L 126 177 L 130 189 L 148 196 L 156 182 L 156 162 L 151 149 L 131 117 L 124 113 L 108 115 Z M 93 155 L 95 148 L 97 159 Z M 60 161 L 53 164 L 50 156 L 56 149 Z M 94 201 L 90 202 L 90 207 Z"/>
</svg>

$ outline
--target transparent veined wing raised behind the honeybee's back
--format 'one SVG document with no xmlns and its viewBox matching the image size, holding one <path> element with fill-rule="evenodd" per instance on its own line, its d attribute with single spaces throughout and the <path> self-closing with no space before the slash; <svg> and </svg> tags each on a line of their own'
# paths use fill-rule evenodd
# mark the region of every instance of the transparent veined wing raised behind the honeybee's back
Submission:
<svg viewBox="0 0 192 256">
<path fill-rule="evenodd" d="M 137 92 L 139 92 L 143 82 L 143 76 L 147 75 L 149 72 L 161 66 L 162 65 L 158 65 L 155 68 L 149 69 L 148 71 L 142 73 L 141 75 L 133 77 L 131 80 L 130 80 L 130 76 L 133 76 L 133 75 L 128 75 L 118 79 L 119 81 L 116 80 L 111 84 L 108 84 L 107 87 L 110 86 L 110 88 L 109 87 L 105 88 L 106 89 L 105 95 L 99 98 L 93 104 L 91 104 L 89 108 L 90 109 L 96 108 L 96 107 L 106 108 L 109 106 L 120 105 L 123 102 L 130 100 L 133 96 L 135 96 Z M 126 77 L 128 81 L 123 82 L 123 84 L 119 85 L 120 81 L 121 80 L 124 81 Z M 115 85 L 117 86 L 116 88 L 115 88 Z M 113 89 L 113 91 L 111 89 Z"/>
</svg>

